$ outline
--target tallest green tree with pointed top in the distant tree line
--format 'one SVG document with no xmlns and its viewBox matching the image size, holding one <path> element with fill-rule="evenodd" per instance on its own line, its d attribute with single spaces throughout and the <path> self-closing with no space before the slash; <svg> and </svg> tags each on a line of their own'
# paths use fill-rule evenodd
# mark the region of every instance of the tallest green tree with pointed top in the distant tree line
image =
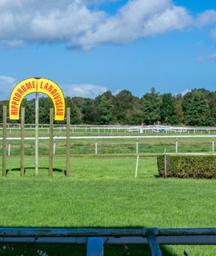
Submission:
<svg viewBox="0 0 216 256">
<path fill-rule="evenodd" d="M 143 106 L 141 106 L 141 110 L 144 112 L 146 125 L 153 125 L 154 123 L 157 124 L 158 120 L 160 120 L 160 93 L 156 92 L 154 87 L 152 87 L 150 91 L 151 93 L 146 93 L 142 97 Z"/>
</svg>

